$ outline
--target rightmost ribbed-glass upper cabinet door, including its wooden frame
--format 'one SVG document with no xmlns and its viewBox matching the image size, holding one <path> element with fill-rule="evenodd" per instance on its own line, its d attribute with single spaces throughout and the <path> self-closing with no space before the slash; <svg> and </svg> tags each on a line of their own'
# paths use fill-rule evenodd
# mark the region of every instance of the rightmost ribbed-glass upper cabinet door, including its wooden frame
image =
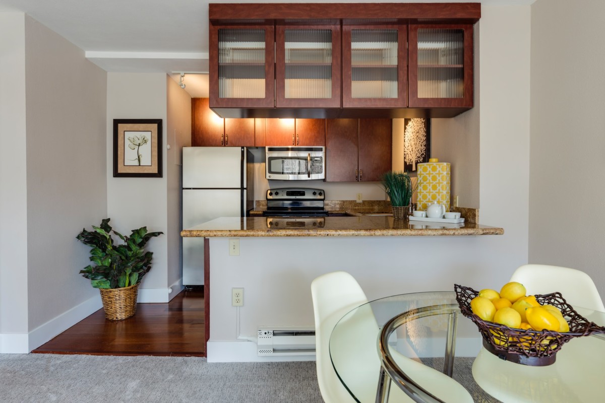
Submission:
<svg viewBox="0 0 605 403">
<path fill-rule="evenodd" d="M 473 25 L 410 25 L 410 108 L 473 106 Z"/>
</svg>

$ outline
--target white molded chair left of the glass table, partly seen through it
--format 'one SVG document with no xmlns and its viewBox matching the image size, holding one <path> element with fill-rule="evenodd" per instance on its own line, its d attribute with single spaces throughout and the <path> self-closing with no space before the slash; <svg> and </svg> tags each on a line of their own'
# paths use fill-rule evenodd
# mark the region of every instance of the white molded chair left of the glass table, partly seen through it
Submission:
<svg viewBox="0 0 605 403">
<path fill-rule="evenodd" d="M 315 313 L 315 349 L 316 366 L 319 390 L 326 403 L 349 403 L 355 402 L 348 393 L 342 382 L 336 375 L 330 358 L 330 335 L 341 318 L 354 308 L 357 308 L 368 300 L 358 282 L 344 271 L 336 271 L 317 277 L 311 284 L 313 297 L 313 311 Z M 346 325 L 346 326 L 344 326 Z M 362 385 L 363 396 L 361 401 L 374 402 L 378 388 L 378 375 L 380 371 L 380 358 L 378 356 L 379 329 L 376 318 L 368 308 L 360 312 L 343 326 L 341 331 L 355 334 L 356 345 L 338 345 L 341 352 L 351 351 L 350 368 L 347 378 L 353 376 L 356 379 L 356 393 Z M 363 346 L 363 348 L 359 348 Z M 466 389 L 449 376 L 418 363 L 403 355 L 394 356 L 399 367 L 414 378 L 422 387 L 447 402 L 473 403 L 473 398 Z M 413 402 L 396 385 L 391 385 L 389 402 Z"/>
</svg>

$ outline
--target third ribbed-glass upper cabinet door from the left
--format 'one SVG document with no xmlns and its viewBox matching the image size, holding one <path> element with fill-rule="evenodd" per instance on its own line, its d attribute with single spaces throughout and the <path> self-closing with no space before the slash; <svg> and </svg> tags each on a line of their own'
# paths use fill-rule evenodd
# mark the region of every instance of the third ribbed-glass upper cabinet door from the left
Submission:
<svg viewBox="0 0 605 403">
<path fill-rule="evenodd" d="M 407 25 L 342 27 L 343 108 L 408 105 Z"/>
</svg>

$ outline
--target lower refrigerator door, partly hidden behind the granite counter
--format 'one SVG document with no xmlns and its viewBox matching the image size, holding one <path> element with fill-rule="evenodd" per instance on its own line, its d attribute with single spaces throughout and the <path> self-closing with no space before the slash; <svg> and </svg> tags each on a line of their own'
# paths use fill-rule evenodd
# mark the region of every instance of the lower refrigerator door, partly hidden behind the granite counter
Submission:
<svg viewBox="0 0 605 403">
<path fill-rule="evenodd" d="M 183 229 L 219 217 L 240 217 L 246 190 L 183 189 Z M 203 238 L 183 238 L 183 285 L 204 283 Z"/>
</svg>

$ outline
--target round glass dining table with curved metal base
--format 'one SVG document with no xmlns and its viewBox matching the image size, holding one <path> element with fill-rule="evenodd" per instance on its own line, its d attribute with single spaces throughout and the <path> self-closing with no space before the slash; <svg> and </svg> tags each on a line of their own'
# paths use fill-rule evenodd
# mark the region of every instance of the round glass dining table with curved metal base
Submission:
<svg viewBox="0 0 605 403">
<path fill-rule="evenodd" d="M 574 309 L 605 326 L 605 312 Z M 434 370 L 451 376 L 475 402 L 594 402 L 605 396 L 604 335 L 572 339 L 548 366 L 505 361 L 482 346 L 453 291 L 365 303 L 338 321 L 329 351 L 336 375 L 360 403 L 465 401 L 447 382 L 431 382 L 426 372 Z"/>
</svg>

